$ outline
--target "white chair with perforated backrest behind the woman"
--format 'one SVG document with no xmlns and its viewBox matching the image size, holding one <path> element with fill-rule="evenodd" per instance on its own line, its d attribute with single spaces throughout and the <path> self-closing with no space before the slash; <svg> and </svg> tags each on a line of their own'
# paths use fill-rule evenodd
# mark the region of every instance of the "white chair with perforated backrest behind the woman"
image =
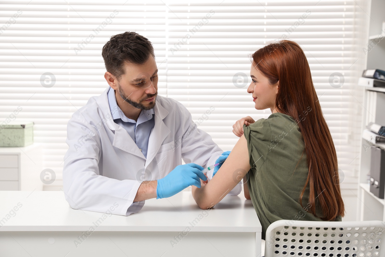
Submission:
<svg viewBox="0 0 385 257">
<path fill-rule="evenodd" d="M 265 257 L 383 257 L 385 222 L 278 220 L 266 231 Z"/>
</svg>

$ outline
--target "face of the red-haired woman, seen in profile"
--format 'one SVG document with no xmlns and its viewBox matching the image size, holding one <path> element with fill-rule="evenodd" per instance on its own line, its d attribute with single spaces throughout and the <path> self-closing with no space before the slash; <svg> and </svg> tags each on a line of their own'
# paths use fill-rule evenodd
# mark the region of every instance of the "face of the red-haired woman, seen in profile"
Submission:
<svg viewBox="0 0 385 257">
<path fill-rule="evenodd" d="M 247 88 L 247 92 L 253 96 L 255 109 L 264 110 L 270 108 L 271 113 L 276 113 L 275 98 L 278 93 L 280 82 L 271 85 L 269 80 L 251 64 L 250 77 L 252 82 Z"/>
</svg>

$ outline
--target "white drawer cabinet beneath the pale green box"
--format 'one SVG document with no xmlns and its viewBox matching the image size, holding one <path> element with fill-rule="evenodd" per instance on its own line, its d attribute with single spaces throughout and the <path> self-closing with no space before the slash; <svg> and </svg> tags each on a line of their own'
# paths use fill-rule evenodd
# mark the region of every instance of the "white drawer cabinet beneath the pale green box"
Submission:
<svg viewBox="0 0 385 257">
<path fill-rule="evenodd" d="M 42 146 L 0 147 L 0 190 L 43 190 Z"/>
</svg>

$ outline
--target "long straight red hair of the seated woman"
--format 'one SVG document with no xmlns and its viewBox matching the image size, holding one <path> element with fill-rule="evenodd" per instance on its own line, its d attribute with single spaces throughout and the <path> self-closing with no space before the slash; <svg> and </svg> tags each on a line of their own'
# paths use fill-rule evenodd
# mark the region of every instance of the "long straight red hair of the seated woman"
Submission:
<svg viewBox="0 0 385 257">
<path fill-rule="evenodd" d="M 328 125 L 311 79 L 310 67 L 301 47 L 290 40 L 273 42 L 253 55 L 254 68 L 279 83 L 276 110 L 298 123 L 305 144 L 309 174 L 300 194 L 300 204 L 309 184 L 309 211 L 316 215 L 316 200 L 323 220 L 344 216 L 337 155 Z M 309 111 L 310 110 L 310 111 Z"/>
</svg>

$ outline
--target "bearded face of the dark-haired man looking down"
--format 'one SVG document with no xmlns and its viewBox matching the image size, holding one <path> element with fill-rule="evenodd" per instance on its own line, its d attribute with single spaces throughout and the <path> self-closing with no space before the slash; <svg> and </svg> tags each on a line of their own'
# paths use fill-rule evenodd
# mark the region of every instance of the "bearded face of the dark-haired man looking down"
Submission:
<svg viewBox="0 0 385 257">
<path fill-rule="evenodd" d="M 158 94 L 158 69 L 155 59 L 144 64 L 124 62 L 125 74 L 118 81 L 118 92 L 122 99 L 135 108 L 154 108 Z"/>
</svg>

